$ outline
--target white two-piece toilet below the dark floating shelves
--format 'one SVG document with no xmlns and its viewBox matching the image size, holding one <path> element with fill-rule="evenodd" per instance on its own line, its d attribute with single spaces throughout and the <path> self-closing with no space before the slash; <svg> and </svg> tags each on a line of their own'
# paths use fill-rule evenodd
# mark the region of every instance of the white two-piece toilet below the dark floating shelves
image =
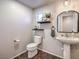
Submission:
<svg viewBox="0 0 79 59">
<path fill-rule="evenodd" d="M 34 36 L 34 42 L 29 43 L 26 47 L 28 50 L 28 58 L 34 57 L 38 53 L 38 45 L 41 44 L 41 36 Z"/>
</svg>

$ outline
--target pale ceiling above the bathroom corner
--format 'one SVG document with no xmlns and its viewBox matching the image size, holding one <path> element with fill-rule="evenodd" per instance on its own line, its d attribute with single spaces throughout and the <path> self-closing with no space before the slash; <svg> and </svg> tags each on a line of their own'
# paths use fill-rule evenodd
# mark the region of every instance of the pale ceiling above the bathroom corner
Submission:
<svg viewBox="0 0 79 59">
<path fill-rule="evenodd" d="M 17 1 L 31 8 L 37 8 L 46 4 L 50 4 L 55 0 L 17 0 Z"/>
</svg>

